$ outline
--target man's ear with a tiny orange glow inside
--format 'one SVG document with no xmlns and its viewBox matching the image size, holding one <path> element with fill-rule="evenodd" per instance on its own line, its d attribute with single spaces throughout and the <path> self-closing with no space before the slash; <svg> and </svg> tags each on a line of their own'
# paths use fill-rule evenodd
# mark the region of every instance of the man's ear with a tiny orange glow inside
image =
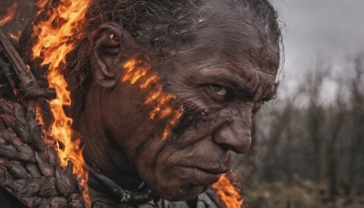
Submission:
<svg viewBox="0 0 364 208">
<path fill-rule="evenodd" d="M 91 70 L 96 84 L 102 88 L 115 87 L 123 57 L 136 46 L 133 36 L 121 24 L 107 23 L 99 26 L 90 44 Z"/>
</svg>

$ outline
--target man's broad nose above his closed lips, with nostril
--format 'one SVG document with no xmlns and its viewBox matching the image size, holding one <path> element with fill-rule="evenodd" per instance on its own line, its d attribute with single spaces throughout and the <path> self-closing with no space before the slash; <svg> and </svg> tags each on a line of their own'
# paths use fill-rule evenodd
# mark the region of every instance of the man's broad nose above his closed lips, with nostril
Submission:
<svg viewBox="0 0 364 208">
<path fill-rule="evenodd" d="M 227 121 L 214 132 L 213 139 L 228 150 L 246 153 L 251 144 L 251 120 L 248 122 Z"/>
</svg>

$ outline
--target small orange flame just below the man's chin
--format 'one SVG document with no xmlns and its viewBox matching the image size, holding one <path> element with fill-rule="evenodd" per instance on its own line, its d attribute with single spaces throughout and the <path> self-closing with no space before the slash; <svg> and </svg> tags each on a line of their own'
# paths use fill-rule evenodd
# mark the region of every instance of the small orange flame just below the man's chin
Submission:
<svg viewBox="0 0 364 208">
<path fill-rule="evenodd" d="M 227 208 L 240 208 L 243 199 L 239 194 L 240 190 L 228 180 L 227 175 L 221 175 L 220 180 L 213 185 L 217 191 L 217 198 L 224 203 Z"/>
</svg>

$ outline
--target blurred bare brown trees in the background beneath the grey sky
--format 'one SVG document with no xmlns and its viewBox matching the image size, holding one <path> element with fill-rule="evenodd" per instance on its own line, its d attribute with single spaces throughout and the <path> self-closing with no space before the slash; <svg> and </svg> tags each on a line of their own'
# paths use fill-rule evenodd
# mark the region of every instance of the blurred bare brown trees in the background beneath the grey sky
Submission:
<svg viewBox="0 0 364 208">
<path fill-rule="evenodd" d="M 253 150 L 237 161 L 238 169 L 249 172 L 243 189 L 254 192 L 258 204 L 251 207 L 364 206 L 364 200 L 361 205 L 353 201 L 353 191 L 364 192 L 364 56 L 353 58 L 345 70 L 333 74 L 329 65 L 319 62 L 295 93 L 278 96 L 260 110 Z M 328 88 L 336 88 L 336 93 L 329 97 Z M 311 205 L 298 206 L 292 199 L 299 197 L 291 194 L 279 206 L 262 202 L 278 199 L 268 194 L 269 187 L 277 186 L 291 192 L 303 189 L 299 192 L 308 194 Z"/>
</svg>

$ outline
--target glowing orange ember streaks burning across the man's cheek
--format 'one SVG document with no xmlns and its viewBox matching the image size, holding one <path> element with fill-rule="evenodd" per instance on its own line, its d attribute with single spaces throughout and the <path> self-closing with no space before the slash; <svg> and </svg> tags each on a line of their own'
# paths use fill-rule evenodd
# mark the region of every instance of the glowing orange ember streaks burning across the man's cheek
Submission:
<svg viewBox="0 0 364 208">
<path fill-rule="evenodd" d="M 182 106 L 176 108 L 172 105 L 176 96 L 163 89 L 159 76 L 146 61 L 136 58 L 127 60 L 123 65 L 121 82 L 135 86 L 146 96 L 144 104 L 153 108 L 149 113 L 149 120 L 167 120 L 162 133 L 162 139 L 166 140 L 184 113 Z"/>
</svg>

